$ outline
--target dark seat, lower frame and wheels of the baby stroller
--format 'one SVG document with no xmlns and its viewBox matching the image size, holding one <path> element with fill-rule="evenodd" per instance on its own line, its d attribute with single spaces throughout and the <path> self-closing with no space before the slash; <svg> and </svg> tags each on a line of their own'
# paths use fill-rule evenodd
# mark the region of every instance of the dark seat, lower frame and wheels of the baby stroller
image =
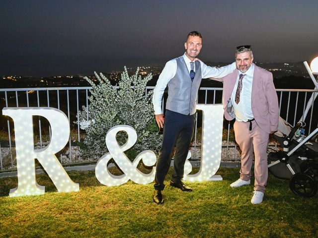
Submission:
<svg viewBox="0 0 318 238">
<path fill-rule="evenodd" d="M 318 128 L 307 137 L 295 137 L 304 124 L 298 122 L 288 135 L 274 134 L 283 150 L 270 152 L 267 163 L 275 177 L 290 179 L 289 187 L 295 194 L 312 197 L 318 189 L 318 143 L 314 141 Z"/>
</svg>

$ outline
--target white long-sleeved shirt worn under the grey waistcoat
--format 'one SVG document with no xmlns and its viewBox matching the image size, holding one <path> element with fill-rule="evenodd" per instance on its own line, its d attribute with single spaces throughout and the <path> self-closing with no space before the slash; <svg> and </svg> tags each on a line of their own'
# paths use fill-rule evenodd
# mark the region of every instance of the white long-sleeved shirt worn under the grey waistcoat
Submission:
<svg viewBox="0 0 318 238">
<path fill-rule="evenodd" d="M 185 55 L 182 56 L 185 64 L 187 65 L 188 71 L 190 73 L 191 66 L 190 62 L 191 60 Z M 220 68 L 217 67 L 211 67 L 206 65 L 204 62 L 199 60 L 201 63 L 201 73 L 202 73 L 202 78 L 222 78 L 229 73 L 232 73 L 234 69 L 236 69 L 236 63 L 232 63 Z M 194 64 L 195 65 L 195 64 Z M 195 71 L 195 66 L 194 66 L 194 71 Z M 168 82 L 175 76 L 177 71 L 177 61 L 175 59 L 169 60 L 166 62 L 164 65 L 164 68 L 162 69 L 156 87 L 154 89 L 154 96 L 153 96 L 153 105 L 154 105 L 154 110 L 155 110 L 155 115 L 162 114 L 161 110 L 161 101 L 162 101 L 162 96 L 164 93 L 164 89 L 166 88 Z"/>
</svg>

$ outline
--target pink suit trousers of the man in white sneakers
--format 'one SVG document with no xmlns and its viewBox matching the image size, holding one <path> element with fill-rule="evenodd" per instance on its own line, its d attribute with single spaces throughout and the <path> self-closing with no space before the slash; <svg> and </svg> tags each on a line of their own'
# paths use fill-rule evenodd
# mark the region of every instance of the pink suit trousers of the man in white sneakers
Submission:
<svg viewBox="0 0 318 238">
<path fill-rule="evenodd" d="M 254 190 L 265 192 L 268 177 L 267 168 L 267 144 L 269 133 L 263 131 L 252 121 L 252 129 L 249 130 L 249 122 L 234 122 L 235 140 L 239 144 L 241 153 L 240 179 L 249 180 L 253 164 L 253 150 L 255 154 L 254 162 Z"/>
</svg>

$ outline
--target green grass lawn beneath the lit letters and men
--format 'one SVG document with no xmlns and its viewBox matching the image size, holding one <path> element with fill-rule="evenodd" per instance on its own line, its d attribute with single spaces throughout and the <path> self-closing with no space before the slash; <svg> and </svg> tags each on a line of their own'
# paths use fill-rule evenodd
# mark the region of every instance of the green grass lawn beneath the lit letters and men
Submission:
<svg viewBox="0 0 318 238">
<path fill-rule="evenodd" d="M 17 178 L 0 179 L 0 237 L 318 237 L 318 195 L 303 198 L 289 181 L 269 176 L 264 201 L 252 205 L 253 186 L 231 188 L 239 169 L 220 168 L 223 181 L 186 182 L 193 192 L 168 185 L 165 202 L 153 202 L 153 183 L 108 187 L 93 171 L 68 172 L 79 192 L 57 192 L 46 175 L 39 196 L 8 197 Z"/>
</svg>

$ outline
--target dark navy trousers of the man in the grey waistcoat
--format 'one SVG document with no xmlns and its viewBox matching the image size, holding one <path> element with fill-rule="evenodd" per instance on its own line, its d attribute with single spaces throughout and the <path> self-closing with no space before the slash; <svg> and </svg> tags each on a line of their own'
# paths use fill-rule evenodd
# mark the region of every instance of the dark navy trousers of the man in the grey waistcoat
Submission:
<svg viewBox="0 0 318 238">
<path fill-rule="evenodd" d="M 172 150 L 175 146 L 173 163 L 173 182 L 180 182 L 183 178 L 184 163 L 187 158 L 195 125 L 195 114 L 187 116 L 169 110 L 165 111 L 163 124 L 162 147 L 157 160 L 155 189 L 163 190 L 171 161 Z"/>
</svg>

